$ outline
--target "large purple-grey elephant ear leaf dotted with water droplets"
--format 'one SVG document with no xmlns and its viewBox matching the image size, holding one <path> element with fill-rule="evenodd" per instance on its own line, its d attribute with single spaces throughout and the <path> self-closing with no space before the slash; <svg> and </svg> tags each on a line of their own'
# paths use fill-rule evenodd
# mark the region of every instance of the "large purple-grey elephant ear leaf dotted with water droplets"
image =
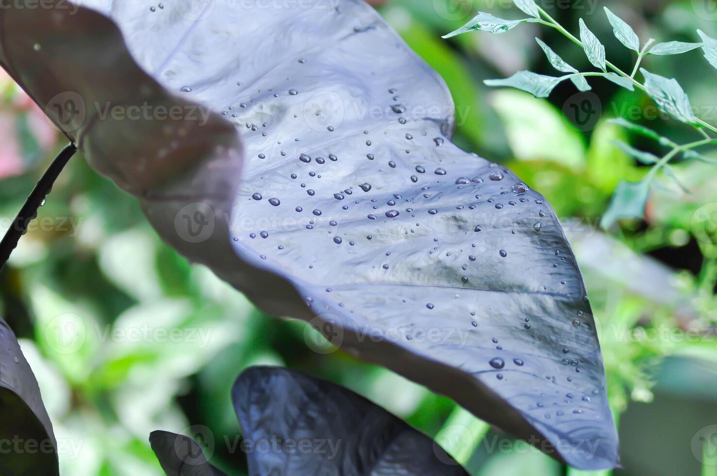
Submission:
<svg viewBox="0 0 717 476">
<path fill-rule="evenodd" d="M 84 2 L 121 34 L 87 9 L 3 10 L 0 62 L 42 107 L 77 92 L 89 119 L 66 130 L 90 164 L 265 312 L 570 465 L 617 465 L 560 223 L 513 173 L 450 143 L 440 77 L 362 1 L 191 3 Z M 95 101 L 187 114 L 123 120 Z M 192 120 L 196 104 L 217 112 Z M 60 125 L 63 110 L 49 108 Z"/>
</svg>

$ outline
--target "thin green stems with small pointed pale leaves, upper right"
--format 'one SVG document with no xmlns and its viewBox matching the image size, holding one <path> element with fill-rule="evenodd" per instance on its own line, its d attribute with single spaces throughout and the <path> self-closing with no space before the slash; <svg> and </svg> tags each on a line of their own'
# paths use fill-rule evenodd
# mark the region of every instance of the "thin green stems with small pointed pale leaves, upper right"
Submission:
<svg viewBox="0 0 717 476">
<path fill-rule="evenodd" d="M 684 190 L 683 185 L 680 184 L 680 181 L 678 181 L 678 178 L 670 169 L 670 161 L 673 161 L 673 159 L 681 157 L 684 159 L 714 163 L 713 160 L 706 158 L 695 149 L 717 145 L 717 127 L 695 115 L 695 110 L 690 103 L 688 95 L 683 88 L 680 87 L 677 80 L 655 75 L 640 66 L 642 65 L 642 60 L 650 55 L 665 56 L 668 54 L 682 54 L 692 51 L 693 49 L 702 48 L 704 57 L 709 64 L 717 68 L 717 39 L 709 37 L 701 30 L 697 30 L 697 34 L 702 39 L 702 42 L 663 42 L 655 44 L 655 39 L 650 38 L 647 39 L 644 44 L 641 44 L 640 38 L 637 37 L 635 30 L 605 7 L 604 11 L 607 15 L 607 20 L 612 26 L 615 37 L 617 37 L 619 42 L 625 45 L 625 47 L 632 49 L 636 54 L 635 67 L 633 67 L 632 72 L 628 73 L 620 70 L 606 59 L 604 45 L 597 36 L 590 31 L 583 19 L 580 19 L 579 22 L 579 38 L 577 38 L 574 34 L 571 34 L 568 29 L 559 24 L 559 22 L 556 22 L 556 20 L 538 6 L 534 0 L 513 0 L 513 3 L 518 9 L 523 11 L 523 13 L 527 14 L 528 18 L 508 20 L 480 12 L 471 19 L 470 22 L 455 32 L 445 35 L 444 38 L 450 38 L 457 34 L 473 31 L 500 34 L 522 23 L 538 23 L 556 29 L 570 39 L 571 42 L 574 42 L 584 49 L 589 62 L 598 71 L 580 72 L 576 70 L 559 57 L 551 47 L 541 41 L 541 39 L 536 38 L 541 49 L 543 49 L 543 52 L 545 52 L 548 57 L 550 64 L 556 70 L 566 73 L 565 75 L 554 77 L 538 75 L 530 71 L 520 71 L 505 80 L 487 80 L 485 81 L 486 85 L 515 87 L 519 90 L 530 92 L 535 97 L 548 97 L 552 90 L 563 81 L 570 80 L 578 90 L 589 91 L 592 88 L 586 78 L 602 77 L 605 80 L 625 87 L 627 90 L 640 90 L 647 93 L 663 113 L 670 115 L 681 123 L 690 125 L 699 136 L 699 139 L 695 137 L 695 141 L 690 143 L 678 144 L 645 126 L 632 123 L 622 118 L 612 120 L 613 123 L 621 125 L 632 133 L 637 133 L 657 141 L 660 146 L 665 148 L 665 153 L 663 156 L 656 156 L 647 151 L 637 150 L 630 146 L 630 144 L 617 142 L 617 147 L 622 151 L 634 157 L 637 161 L 640 161 L 640 163 L 651 166 L 651 169 L 645 178 L 638 183 L 628 181 L 620 182 L 609 209 L 602 217 L 600 224 L 604 229 L 612 227 L 618 219 L 642 218 L 647 197 L 650 193 L 650 187 L 655 184 L 655 176 L 657 176 L 657 173 L 661 170 L 664 170 L 665 173 Z M 638 72 L 642 75 L 642 81 L 640 81 Z"/>
</svg>

